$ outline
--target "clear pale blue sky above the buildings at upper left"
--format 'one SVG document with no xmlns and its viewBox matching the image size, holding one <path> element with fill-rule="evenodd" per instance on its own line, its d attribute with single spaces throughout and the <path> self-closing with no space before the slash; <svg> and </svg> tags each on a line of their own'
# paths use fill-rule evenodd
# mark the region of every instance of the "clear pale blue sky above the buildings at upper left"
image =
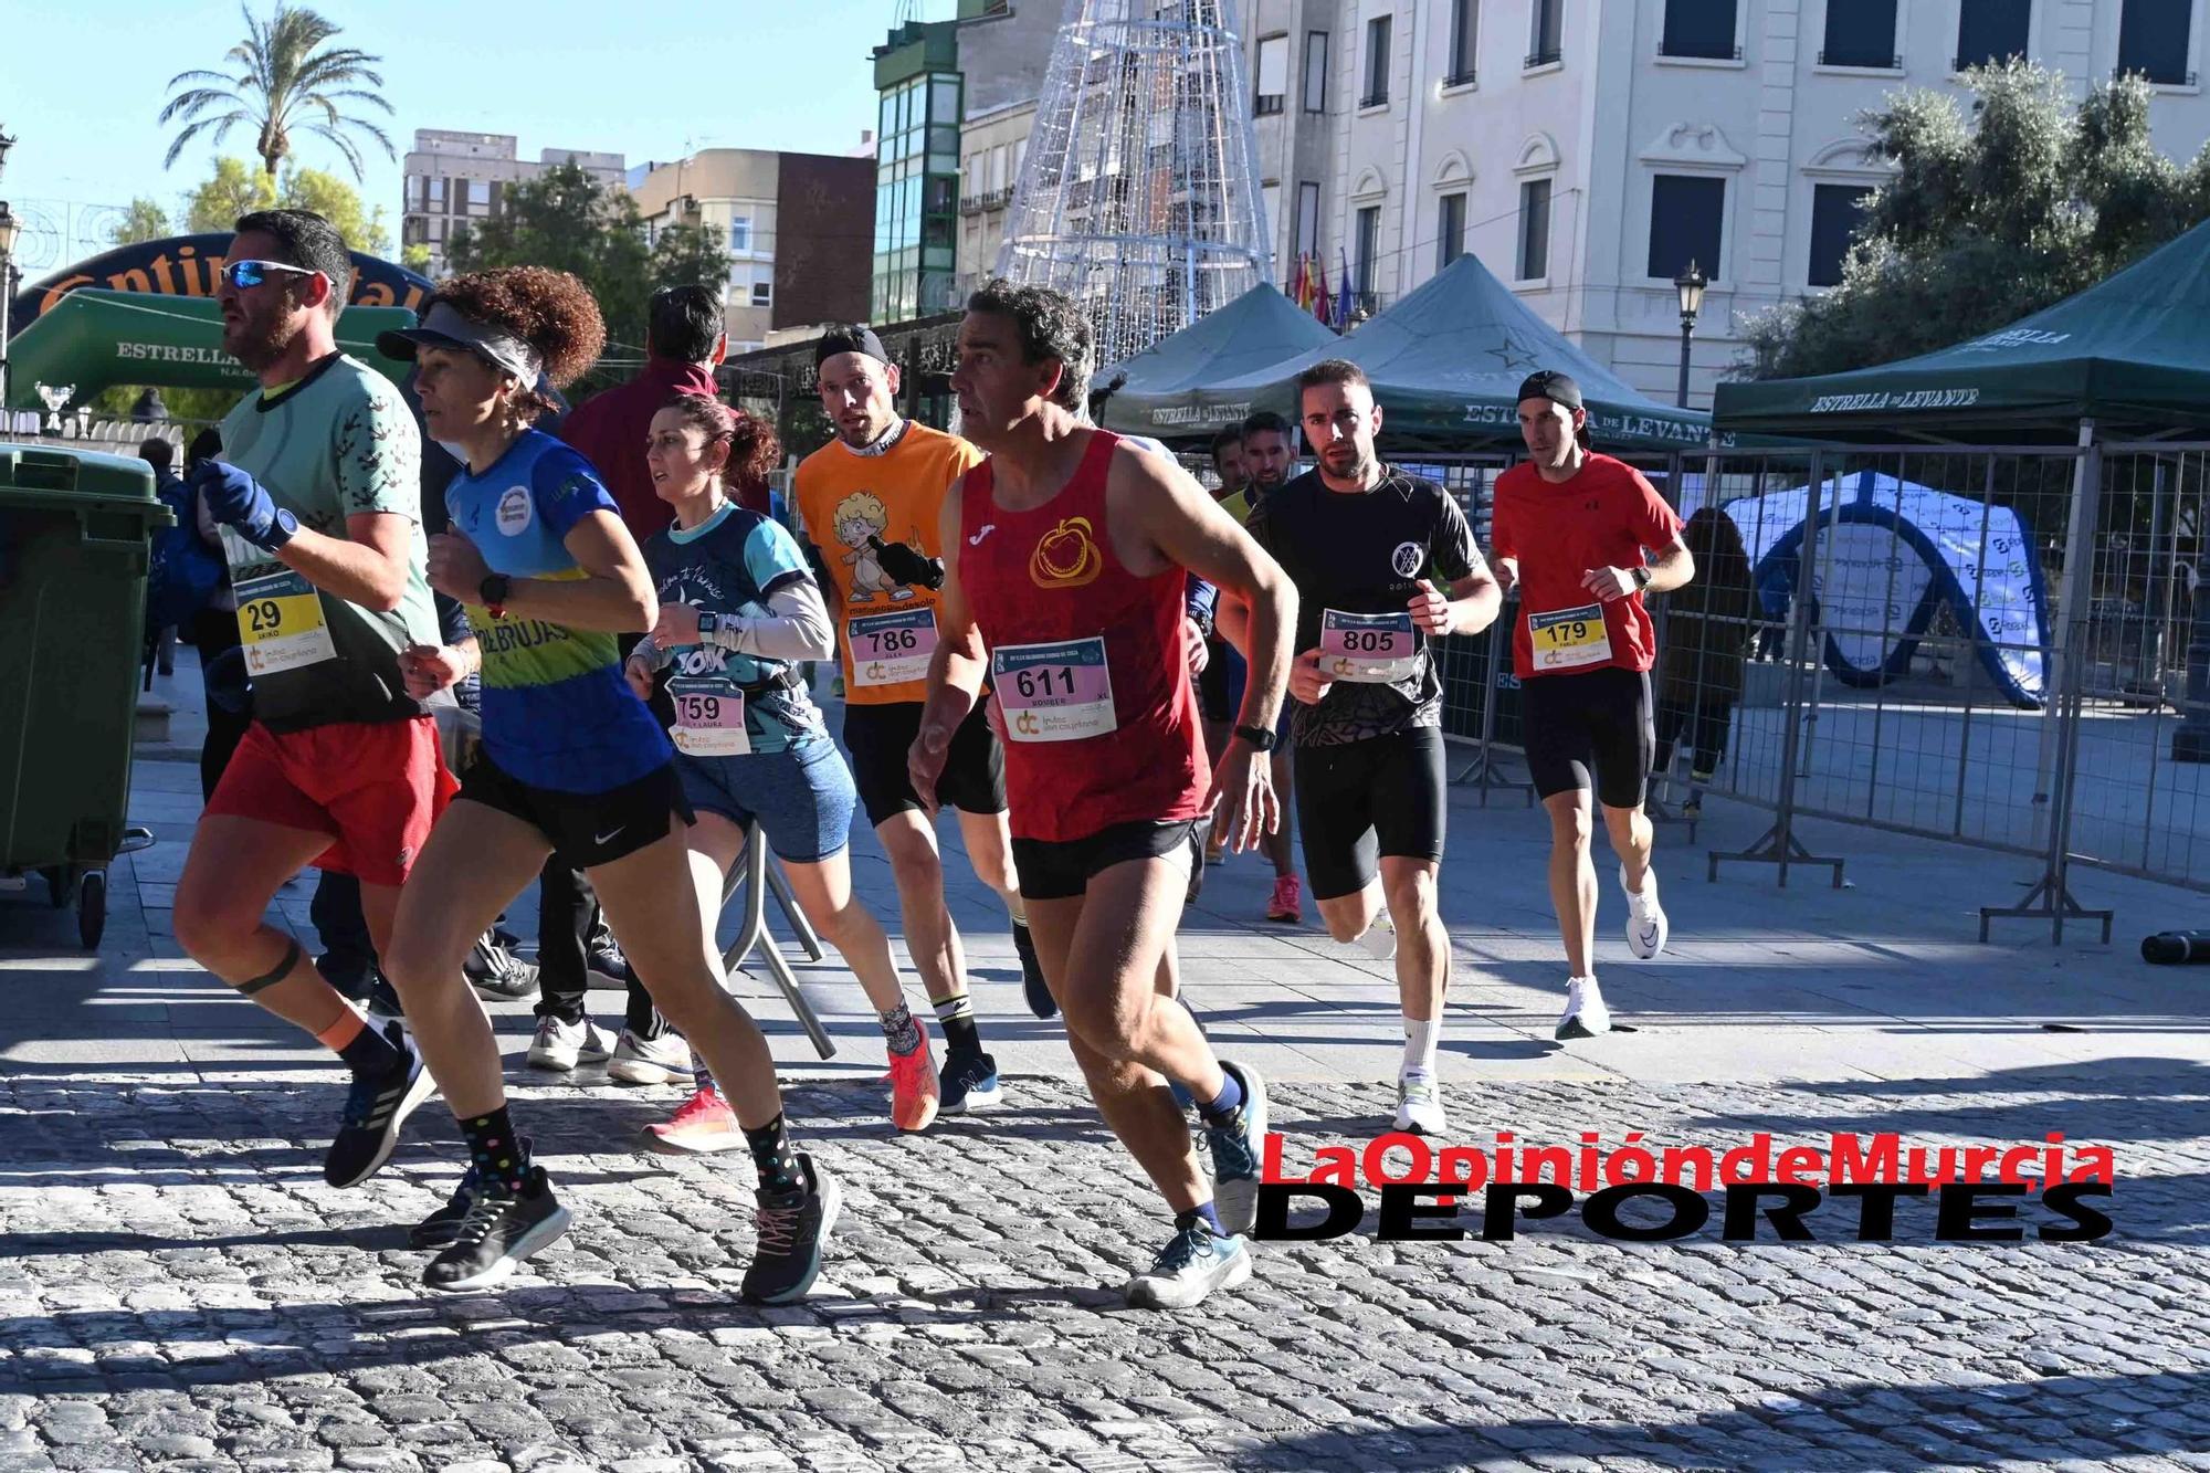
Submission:
<svg viewBox="0 0 2210 1473">
<path fill-rule="evenodd" d="M 250 4 L 265 15 L 274 0 Z M 223 51 L 245 35 L 236 0 L 80 0 L 38 7 L 35 22 L 20 7 L 0 9 L 13 11 L 13 38 L 0 40 L 0 128 L 15 137 L 0 197 L 122 206 L 146 195 L 172 208 L 208 175 L 212 150 L 199 144 L 161 170 L 170 128 L 155 117 L 172 75 L 221 69 Z M 608 148 L 639 164 L 678 157 L 685 142 L 851 153 L 875 126 L 869 51 L 899 7 L 312 0 L 312 9 L 345 27 L 338 44 L 385 60 L 382 93 L 396 115 L 382 122 L 402 155 L 415 128 L 480 128 L 519 135 L 526 159 L 539 148 Z M 919 13 L 950 9 L 953 0 L 924 0 Z M 506 33 L 491 15 L 526 20 Z M 252 135 L 232 130 L 225 150 L 250 157 Z M 320 139 L 303 137 L 298 153 L 345 175 Z M 385 206 L 398 234 L 400 166 L 380 150 L 365 166 L 362 195 Z"/>
</svg>

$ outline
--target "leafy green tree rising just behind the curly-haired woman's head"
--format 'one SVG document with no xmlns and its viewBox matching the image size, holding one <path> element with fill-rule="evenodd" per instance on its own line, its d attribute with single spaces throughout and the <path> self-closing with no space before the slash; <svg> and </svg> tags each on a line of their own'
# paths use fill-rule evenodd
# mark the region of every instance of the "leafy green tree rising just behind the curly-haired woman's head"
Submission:
<svg viewBox="0 0 2210 1473">
<path fill-rule="evenodd" d="M 499 215 L 455 228 L 444 259 L 455 272 L 495 265 L 572 272 L 599 299 L 610 356 L 643 352 L 654 252 L 645 248 L 636 201 L 628 190 L 606 188 L 575 161 L 515 184 Z M 729 274 L 727 259 L 720 274 Z"/>
</svg>

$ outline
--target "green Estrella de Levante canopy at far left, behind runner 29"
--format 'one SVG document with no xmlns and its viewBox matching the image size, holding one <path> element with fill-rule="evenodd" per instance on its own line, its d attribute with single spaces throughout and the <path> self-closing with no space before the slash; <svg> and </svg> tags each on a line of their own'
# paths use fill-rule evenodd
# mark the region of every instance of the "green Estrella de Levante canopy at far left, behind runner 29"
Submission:
<svg viewBox="0 0 2210 1473">
<path fill-rule="evenodd" d="M 338 347 L 398 383 L 407 365 L 376 352 L 376 334 L 393 327 L 413 327 L 413 312 L 347 307 L 338 314 Z M 80 405 L 117 383 L 239 394 L 254 385 L 223 352 L 223 314 L 210 296 L 77 288 L 18 332 L 7 356 L 9 409 L 35 409 L 42 383 L 71 385 Z"/>
</svg>

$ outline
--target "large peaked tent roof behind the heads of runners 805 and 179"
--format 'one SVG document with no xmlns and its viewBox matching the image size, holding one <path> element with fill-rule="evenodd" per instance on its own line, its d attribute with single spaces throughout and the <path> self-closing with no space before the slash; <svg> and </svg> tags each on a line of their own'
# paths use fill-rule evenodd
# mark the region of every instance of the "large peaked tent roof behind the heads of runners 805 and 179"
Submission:
<svg viewBox="0 0 2210 1473">
<path fill-rule="evenodd" d="M 1322 358 L 1350 358 L 1372 378 L 1375 398 L 1388 416 L 1383 436 L 1392 456 L 1516 449 L 1518 385 L 1538 367 L 1562 369 L 1580 380 L 1589 429 L 1600 449 L 1693 451 L 1704 449 L 1711 438 L 1708 416 L 1642 398 L 1536 316 L 1470 254 L 1346 338 L 1328 338 L 1277 363 L 1191 389 L 1185 396 L 1189 409 L 1176 407 L 1182 416 L 1178 422 L 1224 425 L 1253 409 L 1295 418 L 1297 374 Z M 1120 416 L 1118 422 L 1107 418 L 1107 425 L 1174 433 L 1171 425 L 1140 416 Z"/>
</svg>

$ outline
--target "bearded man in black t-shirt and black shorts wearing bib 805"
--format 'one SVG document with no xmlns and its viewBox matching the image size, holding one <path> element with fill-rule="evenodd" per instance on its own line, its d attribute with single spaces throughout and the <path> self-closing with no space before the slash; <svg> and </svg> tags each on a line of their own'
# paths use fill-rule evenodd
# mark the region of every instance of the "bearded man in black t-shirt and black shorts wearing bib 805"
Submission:
<svg viewBox="0 0 2210 1473">
<path fill-rule="evenodd" d="M 1335 940 L 1366 938 L 1375 955 L 1395 955 L 1406 1033 L 1397 1128 L 1439 1135 L 1450 936 L 1434 894 L 1443 683 L 1430 641 L 1481 633 L 1503 595 L 1452 495 L 1377 458 L 1381 407 L 1355 363 L 1317 363 L 1297 391 L 1319 464 L 1269 491 L 1246 529 L 1297 586 L 1291 734 L 1304 869 Z"/>
</svg>

